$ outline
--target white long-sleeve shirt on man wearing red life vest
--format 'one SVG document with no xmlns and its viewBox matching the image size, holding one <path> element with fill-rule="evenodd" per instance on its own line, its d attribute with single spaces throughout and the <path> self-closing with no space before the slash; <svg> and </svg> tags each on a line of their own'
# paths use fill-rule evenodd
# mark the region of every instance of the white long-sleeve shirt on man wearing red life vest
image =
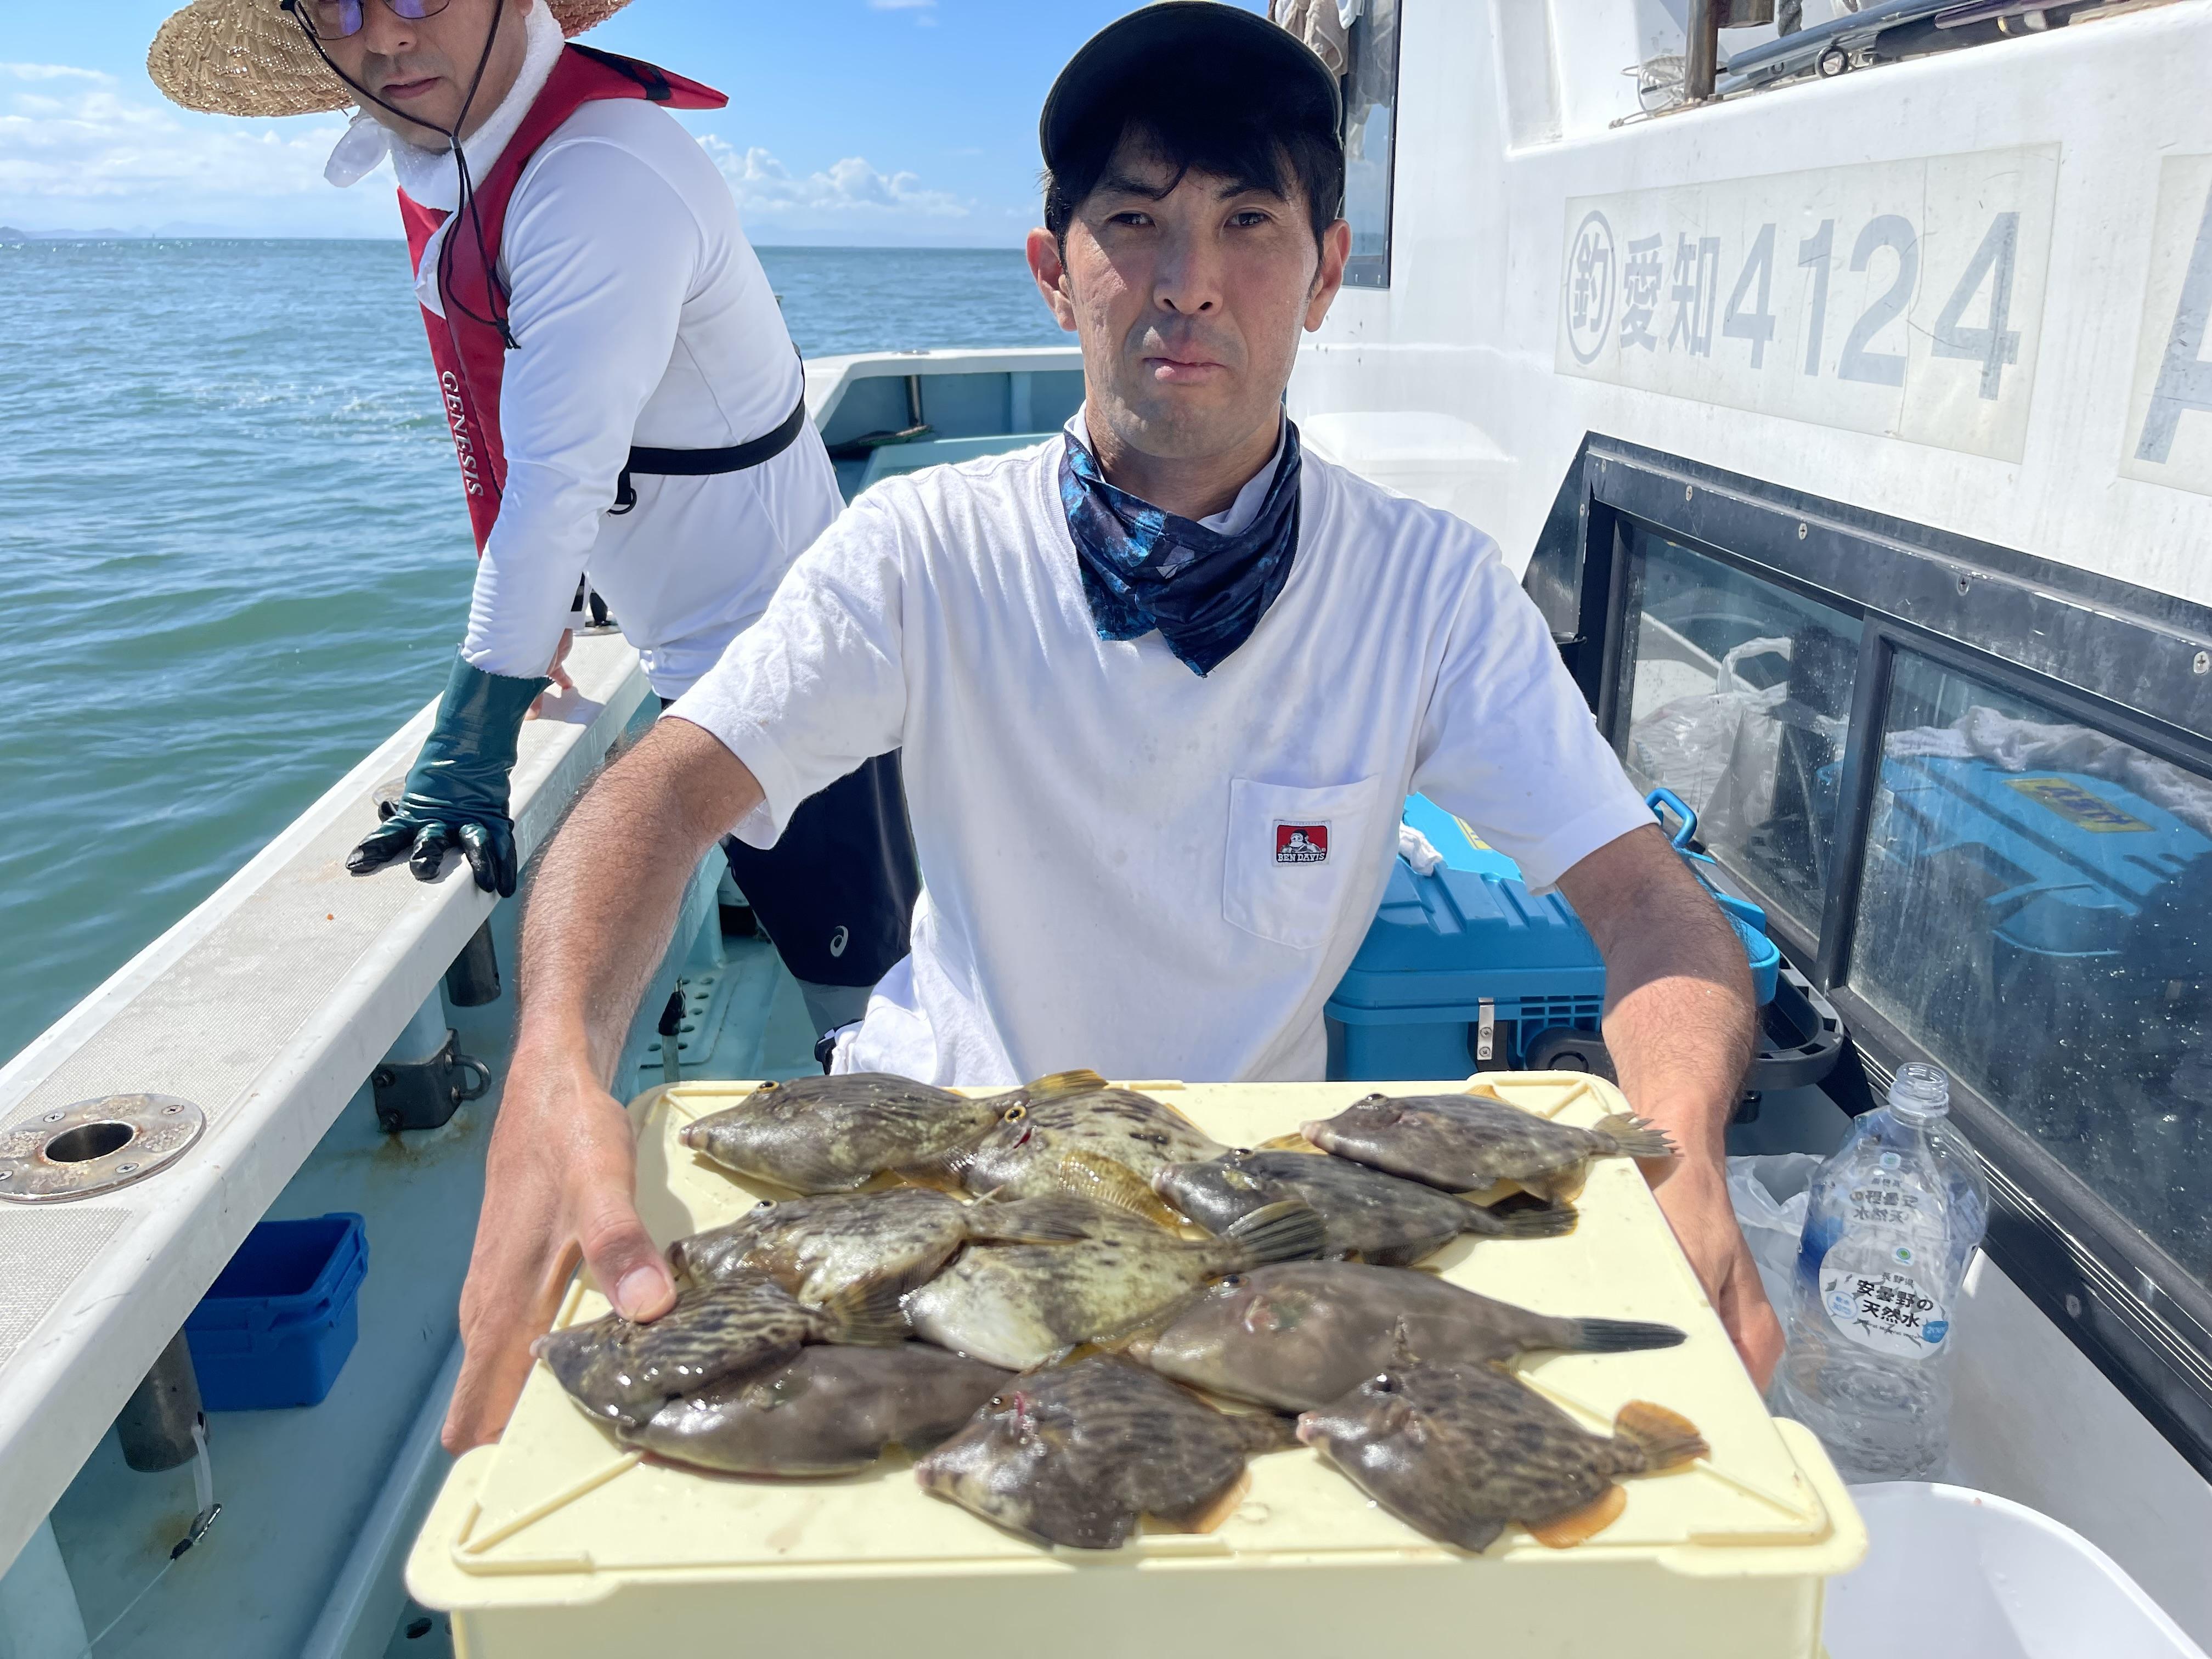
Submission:
<svg viewBox="0 0 2212 1659">
<path fill-rule="evenodd" d="M 557 42 L 535 7 L 522 75 L 469 137 L 471 177 L 491 170 Z M 449 153 L 389 148 L 416 201 L 453 206 Z M 438 237 L 416 294 L 442 314 Z M 635 473 L 635 511 L 608 513 L 630 445 L 719 449 L 792 411 L 803 372 L 768 274 L 706 150 L 672 115 L 630 97 L 584 104 L 538 148 L 509 199 L 500 270 L 520 343 L 500 389 L 507 487 L 462 657 L 493 675 L 544 672 L 588 575 L 653 690 L 675 697 L 768 608 L 783 571 L 843 507 L 807 422 L 781 456 L 741 473 Z"/>
</svg>

